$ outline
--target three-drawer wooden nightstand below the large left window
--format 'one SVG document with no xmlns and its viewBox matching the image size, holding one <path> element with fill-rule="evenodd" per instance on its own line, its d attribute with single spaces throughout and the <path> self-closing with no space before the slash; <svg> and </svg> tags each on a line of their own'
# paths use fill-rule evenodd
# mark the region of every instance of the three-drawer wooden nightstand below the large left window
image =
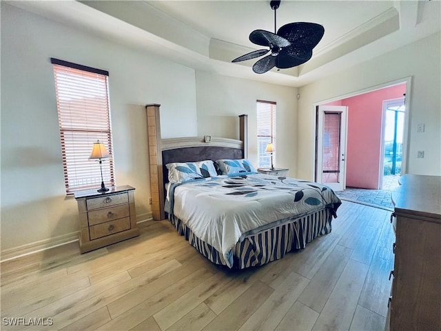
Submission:
<svg viewBox="0 0 441 331">
<path fill-rule="evenodd" d="M 107 192 L 76 192 L 80 217 L 80 251 L 96 250 L 139 236 L 136 225 L 134 188 L 116 186 Z"/>
</svg>

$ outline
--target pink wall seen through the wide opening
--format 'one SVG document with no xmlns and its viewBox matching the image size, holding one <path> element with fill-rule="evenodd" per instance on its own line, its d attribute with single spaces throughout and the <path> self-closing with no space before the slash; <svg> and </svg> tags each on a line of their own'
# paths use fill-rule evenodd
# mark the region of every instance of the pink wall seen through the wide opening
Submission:
<svg viewBox="0 0 441 331">
<path fill-rule="evenodd" d="M 342 99 L 348 107 L 346 185 L 379 189 L 382 101 L 398 99 L 406 84 Z"/>
</svg>

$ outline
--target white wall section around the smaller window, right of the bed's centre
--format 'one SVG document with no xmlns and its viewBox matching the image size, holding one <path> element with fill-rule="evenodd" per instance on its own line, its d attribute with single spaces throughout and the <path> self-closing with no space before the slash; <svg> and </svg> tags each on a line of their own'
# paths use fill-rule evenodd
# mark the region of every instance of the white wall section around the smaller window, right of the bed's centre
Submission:
<svg viewBox="0 0 441 331">
<path fill-rule="evenodd" d="M 297 88 L 196 71 L 198 135 L 239 139 L 238 115 L 248 114 L 248 159 L 257 165 L 256 100 L 276 101 L 274 167 L 296 174 Z"/>
</svg>

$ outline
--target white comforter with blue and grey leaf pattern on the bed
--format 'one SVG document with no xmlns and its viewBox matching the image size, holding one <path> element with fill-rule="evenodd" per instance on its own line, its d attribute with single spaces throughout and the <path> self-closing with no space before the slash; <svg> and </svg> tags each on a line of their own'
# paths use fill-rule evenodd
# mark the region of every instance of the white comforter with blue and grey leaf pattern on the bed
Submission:
<svg viewBox="0 0 441 331">
<path fill-rule="evenodd" d="M 181 219 L 225 261 L 248 234 L 330 208 L 340 199 L 326 185 L 266 174 L 211 177 L 167 188 L 165 211 Z"/>
</svg>

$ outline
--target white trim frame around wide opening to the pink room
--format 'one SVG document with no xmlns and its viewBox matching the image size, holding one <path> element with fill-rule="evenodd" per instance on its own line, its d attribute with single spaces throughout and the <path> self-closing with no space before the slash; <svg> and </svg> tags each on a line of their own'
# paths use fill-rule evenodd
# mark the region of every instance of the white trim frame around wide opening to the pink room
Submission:
<svg viewBox="0 0 441 331">
<path fill-rule="evenodd" d="M 334 101 L 339 101 L 342 99 L 347 99 L 350 97 L 356 97 L 360 94 L 365 94 L 368 92 L 373 92 L 375 90 L 380 90 L 382 88 L 388 88 L 389 86 L 398 85 L 401 83 L 406 83 L 406 110 L 407 112 L 404 114 L 404 133 L 403 133 L 403 151 L 402 151 L 402 163 L 401 163 L 401 174 L 407 174 L 408 173 L 408 158 L 409 158 L 409 125 L 410 125 L 410 114 L 411 114 L 411 83 L 412 83 L 412 77 L 404 77 L 402 79 L 396 79 L 394 81 L 389 81 L 386 83 L 381 83 L 376 86 L 371 86 L 369 88 L 364 88 L 362 90 L 348 92 L 346 94 L 340 94 L 340 96 L 332 97 L 329 99 L 325 99 L 322 101 L 316 101 L 312 104 L 311 112 L 313 114 L 316 114 L 316 108 L 317 106 L 323 105 L 325 103 L 331 103 Z M 312 126 L 312 132 L 314 132 L 314 143 L 312 144 L 311 148 L 313 149 L 313 152 L 311 154 L 311 174 L 315 177 L 316 174 L 316 139 L 317 139 L 317 126 L 316 126 L 316 117 L 314 116 L 314 121 L 311 121 Z"/>
</svg>

